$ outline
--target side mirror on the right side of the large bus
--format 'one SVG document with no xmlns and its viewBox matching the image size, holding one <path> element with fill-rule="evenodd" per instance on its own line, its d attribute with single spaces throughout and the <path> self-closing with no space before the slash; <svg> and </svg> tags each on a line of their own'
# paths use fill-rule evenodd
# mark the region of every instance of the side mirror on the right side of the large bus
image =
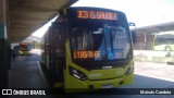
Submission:
<svg viewBox="0 0 174 98">
<path fill-rule="evenodd" d="M 135 23 L 129 23 L 128 25 L 129 25 L 129 32 L 133 38 L 133 42 L 137 44 L 136 25 Z"/>
</svg>

